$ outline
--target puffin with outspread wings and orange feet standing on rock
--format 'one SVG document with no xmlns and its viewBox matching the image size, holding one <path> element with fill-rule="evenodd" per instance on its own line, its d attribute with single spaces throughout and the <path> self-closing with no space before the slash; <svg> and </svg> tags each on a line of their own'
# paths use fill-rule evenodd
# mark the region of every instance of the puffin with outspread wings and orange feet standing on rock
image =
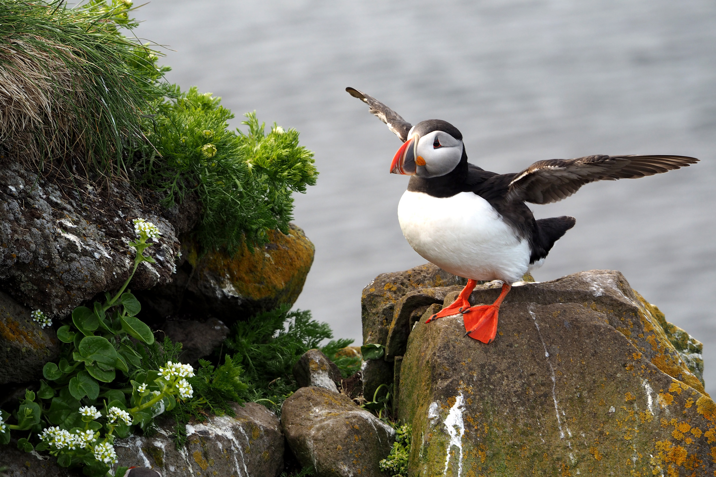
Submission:
<svg viewBox="0 0 716 477">
<path fill-rule="evenodd" d="M 390 164 L 392 174 L 410 176 L 398 204 L 403 236 L 429 262 L 468 279 L 455 301 L 425 323 L 462 314 L 465 335 L 486 344 L 495 339 L 500 305 L 513 283 L 540 267 L 576 223 L 569 216 L 535 220 L 525 202 L 549 204 L 589 182 L 660 174 L 699 160 L 596 154 L 541 160 L 521 172 L 498 174 L 468 162 L 463 134 L 453 124 L 427 119 L 413 126 L 374 97 L 352 87 L 346 91 L 403 142 Z M 492 280 L 503 283 L 495 303 L 471 306 L 478 281 Z"/>
</svg>

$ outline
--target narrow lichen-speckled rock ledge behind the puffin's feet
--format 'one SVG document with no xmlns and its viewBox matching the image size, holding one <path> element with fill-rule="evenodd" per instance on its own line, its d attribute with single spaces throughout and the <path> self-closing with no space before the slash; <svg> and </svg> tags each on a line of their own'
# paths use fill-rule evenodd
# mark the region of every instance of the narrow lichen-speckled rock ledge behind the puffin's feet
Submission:
<svg viewBox="0 0 716 477">
<path fill-rule="evenodd" d="M 464 278 L 426 263 L 402 272 L 381 273 L 364 289 L 361 297 L 363 343 L 386 345 L 388 330 L 398 299 L 419 288 L 463 285 Z"/>
</svg>

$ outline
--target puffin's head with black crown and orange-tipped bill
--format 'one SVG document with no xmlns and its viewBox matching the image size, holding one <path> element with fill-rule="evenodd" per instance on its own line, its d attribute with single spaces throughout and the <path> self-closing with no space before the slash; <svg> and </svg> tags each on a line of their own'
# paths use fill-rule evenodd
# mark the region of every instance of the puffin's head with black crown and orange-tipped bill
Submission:
<svg viewBox="0 0 716 477">
<path fill-rule="evenodd" d="M 463 134 L 440 119 L 422 121 L 410 129 L 407 141 L 390 164 L 392 174 L 429 178 L 448 174 L 463 157 Z"/>
</svg>

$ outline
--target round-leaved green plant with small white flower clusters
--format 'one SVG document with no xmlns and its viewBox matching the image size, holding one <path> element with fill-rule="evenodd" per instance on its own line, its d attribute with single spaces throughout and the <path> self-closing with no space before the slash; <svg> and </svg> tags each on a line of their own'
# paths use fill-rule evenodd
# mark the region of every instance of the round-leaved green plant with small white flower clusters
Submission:
<svg viewBox="0 0 716 477">
<path fill-rule="evenodd" d="M 195 375 L 190 365 L 168 361 L 158 370 L 142 368 L 137 345 L 130 340 L 154 343 L 150 328 L 135 318 L 140 303 L 125 290 L 141 262 L 154 262 L 142 252 L 152 245 L 147 240 L 160 235 L 151 222 L 137 219 L 134 224 L 137 240 L 129 245 L 136 255 L 130 277 L 113 297 L 106 295 L 105 303 L 75 308 L 72 323 L 57 330 L 57 338 L 65 343 L 59 363 L 44 365 L 45 380 L 37 393 L 26 391 L 12 415 L 15 424 L 6 423 L 9 413 L 0 413 L 0 443 L 9 443 L 9 431 L 30 431 L 18 440 L 21 450 L 48 451 L 60 466 L 81 465 L 88 476 L 104 476 L 117 462 L 115 436 L 126 437 L 130 426 L 145 428 L 178 400 L 192 398 L 188 379 Z M 34 319 L 47 325 L 42 312 Z M 120 389 L 112 387 L 121 382 L 117 370 L 128 381 Z"/>
</svg>

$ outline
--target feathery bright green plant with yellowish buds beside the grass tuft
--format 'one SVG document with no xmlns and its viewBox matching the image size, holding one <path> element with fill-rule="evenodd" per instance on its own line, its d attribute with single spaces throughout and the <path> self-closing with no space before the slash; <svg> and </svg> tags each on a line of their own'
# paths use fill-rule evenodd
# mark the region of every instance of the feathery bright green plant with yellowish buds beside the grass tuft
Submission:
<svg viewBox="0 0 716 477">
<path fill-rule="evenodd" d="M 188 192 L 198 195 L 203 216 L 196 233 L 206 249 L 263 244 L 271 229 L 288 233 L 291 193 L 305 192 L 317 175 L 299 132 L 274 124 L 266 134 L 255 112 L 241 123 L 246 134 L 234 132 L 228 129 L 234 116 L 221 98 L 195 87 L 185 93 L 173 87 L 171 96 L 145 121 L 151 146 L 138 165 L 145 183 L 163 192 L 168 207 Z"/>
</svg>

